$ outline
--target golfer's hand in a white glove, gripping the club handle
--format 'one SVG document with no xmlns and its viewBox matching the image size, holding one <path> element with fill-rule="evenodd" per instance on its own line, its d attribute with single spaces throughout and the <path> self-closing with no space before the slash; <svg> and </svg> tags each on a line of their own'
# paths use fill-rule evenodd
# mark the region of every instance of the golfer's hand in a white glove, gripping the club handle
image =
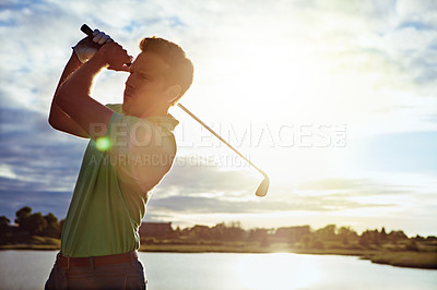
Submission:
<svg viewBox="0 0 437 290">
<path fill-rule="evenodd" d="M 105 34 L 104 32 L 99 32 L 98 29 L 95 29 L 93 35 L 93 38 L 87 36 L 73 47 L 75 56 L 82 63 L 88 61 L 97 52 L 102 45 L 114 43 L 109 35 Z"/>
</svg>

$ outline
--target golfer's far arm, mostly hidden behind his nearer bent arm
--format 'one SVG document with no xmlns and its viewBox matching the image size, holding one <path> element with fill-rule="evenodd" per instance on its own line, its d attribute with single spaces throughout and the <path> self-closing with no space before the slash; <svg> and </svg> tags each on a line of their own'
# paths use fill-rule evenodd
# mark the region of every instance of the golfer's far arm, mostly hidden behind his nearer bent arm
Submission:
<svg viewBox="0 0 437 290">
<path fill-rule="evenodd" d="M 66 80 L 78 70 L 82 63 L 79 61 L 74 51 L 71 55 L 70 60 L 67 62 L 66 68 L 63 69 L 61 78 L 59 80 L 58 86 L 55 90 L 54 99 L 51 101 L 50 114 L 48 118 L 49 124 L 59 131 L 79 136 L 79 137 L 90 137 L 85 130 L 83 130 L 73 119 L 71 119 L 64 111 L 59 108 L 56 104 L 55 98 L 58 94 L 59 87 L 66 82 Z"/>
</svg>

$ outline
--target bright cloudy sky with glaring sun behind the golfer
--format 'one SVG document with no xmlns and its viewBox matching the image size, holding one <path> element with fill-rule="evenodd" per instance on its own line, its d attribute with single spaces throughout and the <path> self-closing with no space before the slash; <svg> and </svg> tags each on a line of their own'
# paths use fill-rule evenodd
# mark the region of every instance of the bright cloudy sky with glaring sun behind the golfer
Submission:
<svg viewBox="0 0 437 290">
<path fill-rule="evenodd" d="M 87 23 L 132 56 L 145 36 L 194 63 L 181 99 L 270 177 L 177 107 L 178 156 L 145 220 L 245 228 L 329 223 L 437 234 L 437 3 L 222 0 L 0 3 L 0 215 L 63 218 L 87 141 L 47 122 Z M 120 102 L 127 74 L 93 97 Z"/>
</svg>

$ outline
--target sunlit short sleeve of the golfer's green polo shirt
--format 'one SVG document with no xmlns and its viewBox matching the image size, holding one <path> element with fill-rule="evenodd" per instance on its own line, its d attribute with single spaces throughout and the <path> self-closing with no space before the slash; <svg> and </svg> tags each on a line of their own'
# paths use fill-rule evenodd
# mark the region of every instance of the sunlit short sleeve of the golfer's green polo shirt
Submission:
<svg viewBox="0 0 437 290">
<path fill-rule="evenodd" d="M 114 112 L 106 136 L 111 143 L 113 166 L 125 183 L 149 192 L 172 168 L 176 154 L 173 133 L 146 119 Z"/>
</svg>

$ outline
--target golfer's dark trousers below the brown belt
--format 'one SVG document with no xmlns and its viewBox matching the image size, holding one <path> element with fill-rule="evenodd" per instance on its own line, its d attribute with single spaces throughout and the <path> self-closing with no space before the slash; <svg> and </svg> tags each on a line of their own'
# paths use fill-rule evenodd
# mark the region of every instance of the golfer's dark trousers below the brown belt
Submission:
<svg viewBox="0 0 437 290">
<path fill-rule="evenodd" d="M 141 261 L 63 269 L 55 263 L 45 285 L 51 289 L 146 289 L 144 267 Z"/>
</svg>

